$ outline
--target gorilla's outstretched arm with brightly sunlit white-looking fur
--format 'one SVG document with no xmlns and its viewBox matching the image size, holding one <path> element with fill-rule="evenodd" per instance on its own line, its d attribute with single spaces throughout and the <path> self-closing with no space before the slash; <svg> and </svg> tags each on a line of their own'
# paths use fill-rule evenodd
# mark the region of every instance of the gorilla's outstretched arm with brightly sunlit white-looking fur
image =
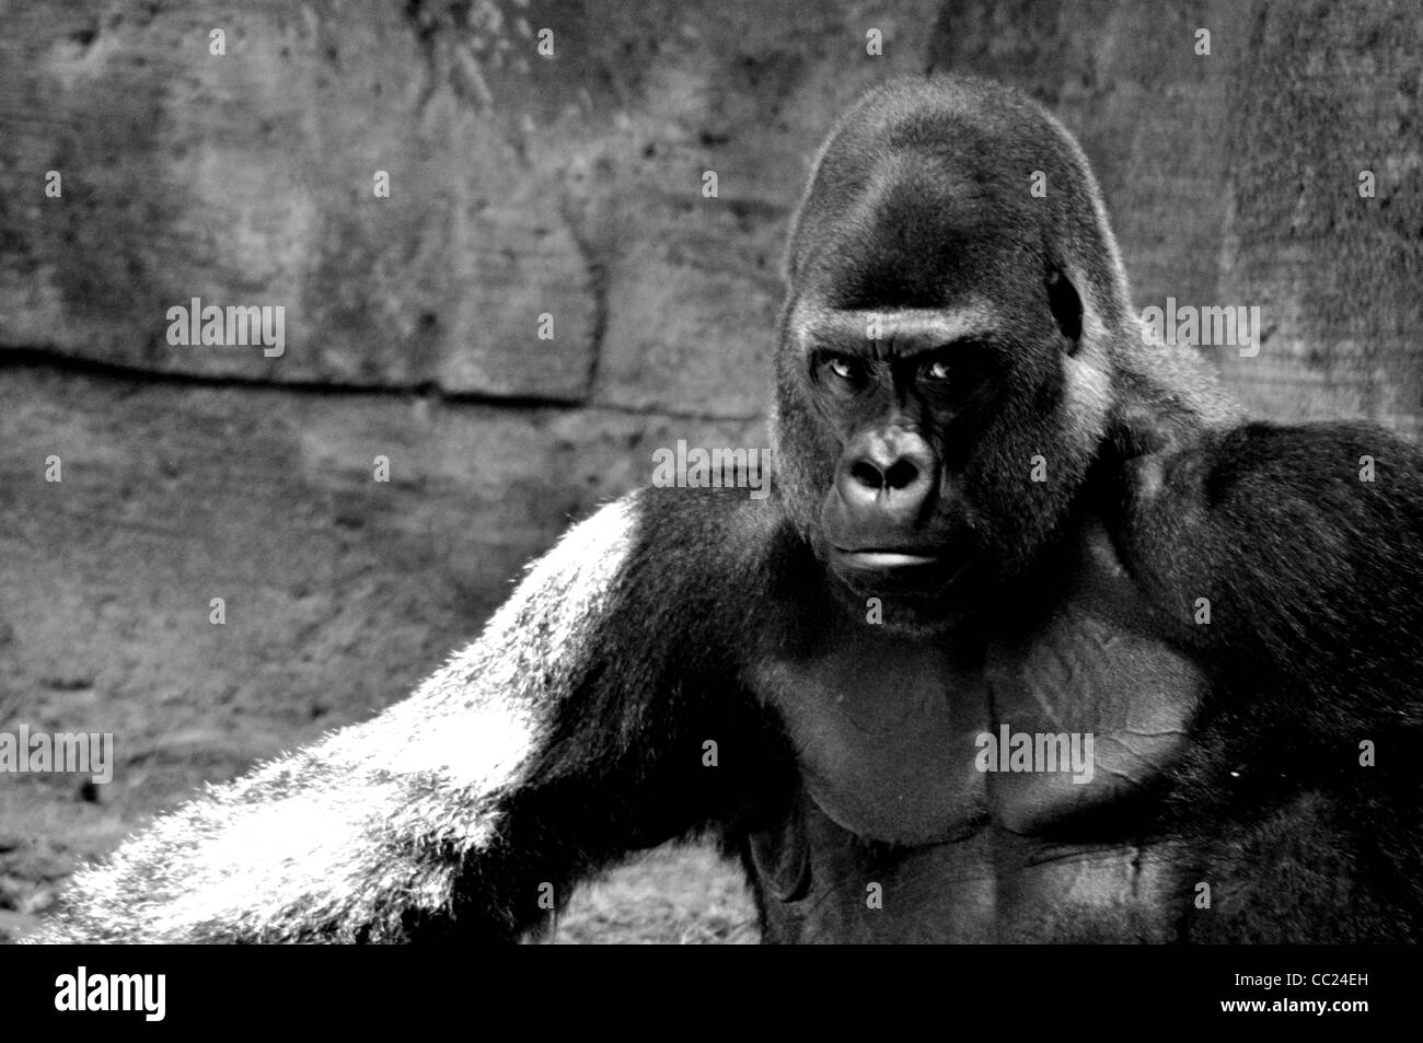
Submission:
<svg viewBox="0 0 1423 1043">
<path fill-rule="evenodd" d="M 767 763 L 706 605 L 734 509 L 605 507 L 410 699 L 159 818 L 36 941 L 514 939 L 588 872 L 729 821 Z"/>
</svg>

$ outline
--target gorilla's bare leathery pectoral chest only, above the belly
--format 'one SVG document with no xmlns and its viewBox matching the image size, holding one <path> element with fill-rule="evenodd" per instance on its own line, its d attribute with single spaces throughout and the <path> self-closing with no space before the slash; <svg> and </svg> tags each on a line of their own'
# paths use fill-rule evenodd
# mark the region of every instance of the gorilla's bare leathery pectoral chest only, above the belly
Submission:
<svg viewBox="0 0 1423 1043">
<path fill-rule="evenodd" d="M 831 821 L 924 845 L 985 825 L 1052 835 L 1086 817 L 1140 817 L 1204 679 L 1160 642 L 1064 608 L 972 663 L 916 642 L 850 639 L 773 662 L 761 686 Z"/>
</svg>

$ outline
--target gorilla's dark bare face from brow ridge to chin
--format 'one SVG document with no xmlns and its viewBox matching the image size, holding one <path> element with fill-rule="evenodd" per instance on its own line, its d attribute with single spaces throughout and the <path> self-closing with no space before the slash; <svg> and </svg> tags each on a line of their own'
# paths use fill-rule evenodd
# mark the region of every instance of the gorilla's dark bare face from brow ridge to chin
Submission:
<svg viewBox="0 0 1423 1043">
<path fill-rule="evenodd" d="M 1044 509 L 1032 461 L 1059 441 L 1054 363 L 1074 347 L 1046 285 L 1039 305 L 795 310 L 798 400 L 830 464 L 811 542 L 857 606 L 879 595 L 905 622 L 948 619 L 1029 549 L 1022 521 Z"/>
</svg>

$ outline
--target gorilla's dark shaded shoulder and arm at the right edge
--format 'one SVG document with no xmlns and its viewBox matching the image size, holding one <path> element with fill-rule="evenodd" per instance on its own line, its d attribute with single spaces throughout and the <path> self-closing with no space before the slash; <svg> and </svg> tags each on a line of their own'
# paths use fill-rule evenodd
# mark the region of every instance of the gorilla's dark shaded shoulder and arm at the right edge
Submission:
<svg viewBox="0 0 1423 1043">
<path fill-rule="evenodd" d="M 1215 891 L 1188 941 L 1419 938 L 1423 452 L 1247 424 L 1127 472 L 1118 552 L 1212 677 L 1173 770 L 1190 879 Z"/>
</svg>

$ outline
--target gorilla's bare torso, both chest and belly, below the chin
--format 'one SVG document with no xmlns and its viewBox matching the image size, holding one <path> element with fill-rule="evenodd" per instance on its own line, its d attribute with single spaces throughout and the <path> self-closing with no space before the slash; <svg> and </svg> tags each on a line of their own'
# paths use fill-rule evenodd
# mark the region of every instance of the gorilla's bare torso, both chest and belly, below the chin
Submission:
<svg viewBox="0 0 1423 1043">
<path fill-rule="evenodd" d="M 1080 609 L 972 665 L 877 645 L 763 672 L 803 784 L 751 842 L 770 938 L 1170 935 L 1154 811 L 1204 692 L 1190 662 Z"/>
</svg>

